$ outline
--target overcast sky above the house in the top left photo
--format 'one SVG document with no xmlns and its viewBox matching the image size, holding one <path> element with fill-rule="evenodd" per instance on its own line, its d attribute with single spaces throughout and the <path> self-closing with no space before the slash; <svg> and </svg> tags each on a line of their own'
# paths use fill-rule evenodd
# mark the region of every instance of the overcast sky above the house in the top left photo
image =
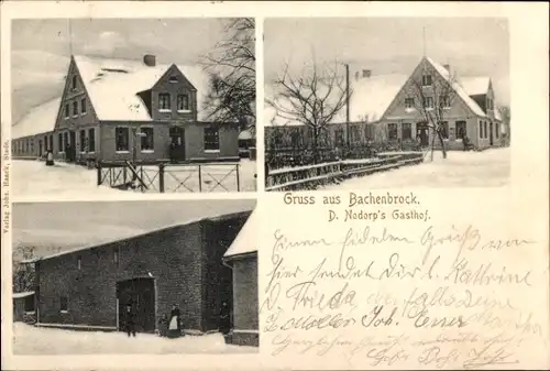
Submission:
<svg viewBox="0 0 550 371">
<path fill-rule="evenodd" d="M 112 58 L 157 56 L 197 64 L 223 37 L 223 19 L 51 19 L 12 24 L 12 119 L 58 97 L 70 51 Z M 70 30 L 70 32 L 69 32 Z"/>
</svg>

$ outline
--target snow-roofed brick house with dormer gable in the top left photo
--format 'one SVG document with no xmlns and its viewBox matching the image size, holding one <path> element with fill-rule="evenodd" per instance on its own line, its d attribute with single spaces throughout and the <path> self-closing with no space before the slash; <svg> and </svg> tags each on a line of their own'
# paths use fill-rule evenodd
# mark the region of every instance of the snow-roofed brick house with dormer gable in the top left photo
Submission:
<svg viewBox="0 0 550 371">
<path fill-rule="evenodd" d="M 74 55 L 59 98 L 12 126 L 12 154 L 69 162 L 239 159 L 238 123 L 206 107 L 209 76 L 199 66 Z"/>
</svg>

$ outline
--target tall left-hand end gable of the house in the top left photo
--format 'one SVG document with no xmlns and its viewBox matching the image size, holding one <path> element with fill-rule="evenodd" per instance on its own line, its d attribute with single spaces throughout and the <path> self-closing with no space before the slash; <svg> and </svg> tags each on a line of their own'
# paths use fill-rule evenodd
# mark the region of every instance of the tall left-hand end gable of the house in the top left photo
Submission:
<svg viewBox="0 0 550 371">
<path fill-rule="evenodd" d="M 70 57 L 67 75 L 65 76 L 65 86 L 57 110 L 55 130 L 74 130 L 81 126 L 96 123 L 98 119 L 92 101 L 86 90 L 86 84 L 78 70 L 75 58 Z"/>
</svg>

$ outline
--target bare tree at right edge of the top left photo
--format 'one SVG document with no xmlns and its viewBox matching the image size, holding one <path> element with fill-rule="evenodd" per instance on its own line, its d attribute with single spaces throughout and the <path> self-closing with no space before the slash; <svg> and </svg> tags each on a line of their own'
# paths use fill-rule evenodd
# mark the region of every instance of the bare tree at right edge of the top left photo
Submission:
<svg viewBox="0 0 550 371">
<path fill-rule="evenodd" d="M 256 57 L 253 18 L 224 21 L 224 37 L 206 55 L 209 73 L 205 109 L 218 122 L 239 122 L 242 129 L 256 122 Z"/>
</svg>

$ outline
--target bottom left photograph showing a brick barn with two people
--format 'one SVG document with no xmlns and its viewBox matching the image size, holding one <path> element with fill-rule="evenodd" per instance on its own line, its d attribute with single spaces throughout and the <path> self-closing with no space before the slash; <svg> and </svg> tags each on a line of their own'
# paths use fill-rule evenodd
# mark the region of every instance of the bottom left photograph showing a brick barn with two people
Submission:
<svg viewBox="0 0 550 371">
<path fill-rule="evenodd" d="M 255 203 L 14 204 L 13 353 L 256 352 Z"/>
</svg>

